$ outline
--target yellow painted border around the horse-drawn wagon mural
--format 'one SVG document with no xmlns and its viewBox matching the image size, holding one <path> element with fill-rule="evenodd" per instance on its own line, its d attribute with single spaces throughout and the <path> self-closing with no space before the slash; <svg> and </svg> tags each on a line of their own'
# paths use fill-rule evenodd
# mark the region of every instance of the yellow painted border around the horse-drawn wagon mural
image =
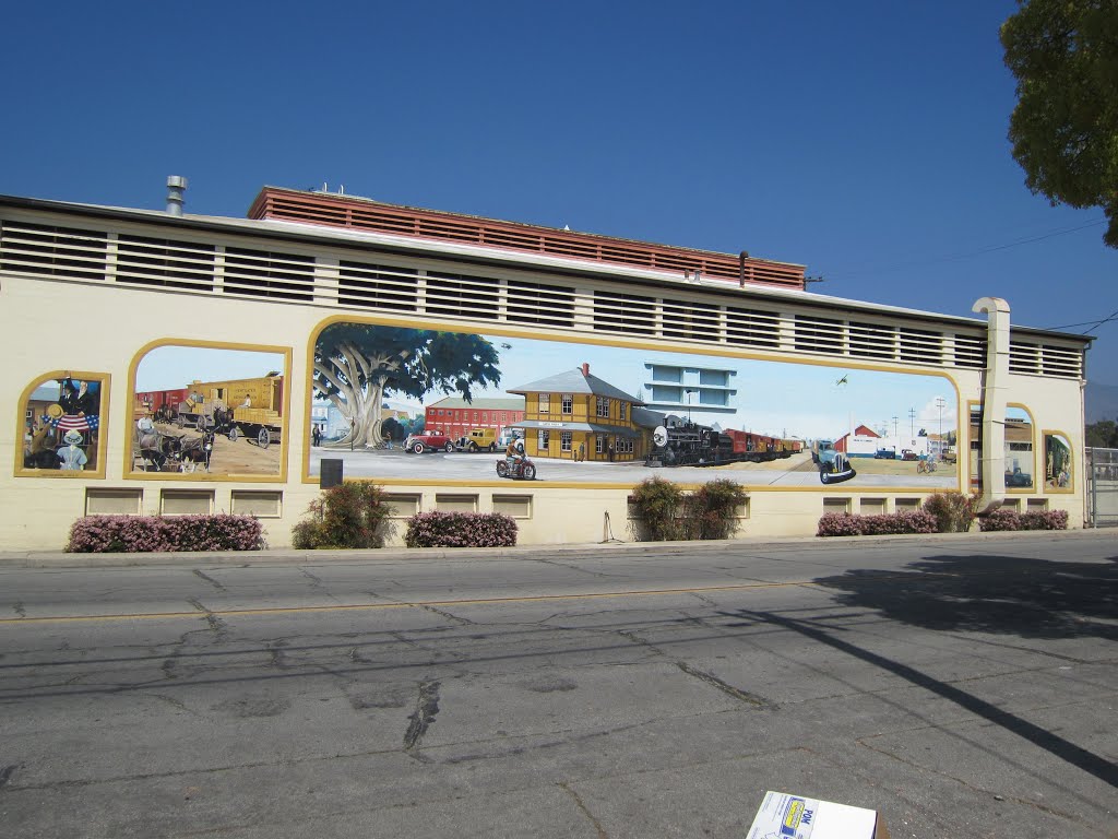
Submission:
<svg viewBox="0 0 1118 839">
<path fill-rule="evenodd" d="M 283 416 L 285 417 L 283 437 L 280 441 L 280 473 L 274 475 L 267 474 L 241 474 L 241 473 L 229 473 L 229 474 L 211 474 L 209 472 L 136 472 L 132 469 L 133 464 L 133 453 L 132 453 L 132 409 L 133 402 L 135 399 L 136 393 L 136 370 L 140 367 L 140 362 L 143 360 L 152 350 L 159 349 L 160 347 L 198 347 L 201 349 L 225 349 L 234 350 L 238 352 L 271 352 L 278 353 L 283 356 L 284 359 L 284 394 L 283 394 Z M 124 405 L 121 411 L 121 427 L 129 430 L 129 437 L 124 442 L 124 462 L 123 462 L 123 474 L 125 480 L 130 481 L 184 481 L 191 483 L 221 483 L 221 482 L 236 482 L 236 483 L 286 483 L 287 482 L 287 458 L 290 454 L 290 447 L 287 445 L 291 437 L 291 431 L 288 428 L 290 423 L 286 418 L 291 417 L 291 364 L 292 364 L 292 348 L 291 347 L 275 347 L 265 343 L 236 343 L 233 341 L 205 341 L 191 338 L 159 338 L 154 341 L 149 341 L 143 347 L 141 347 L 136 353 L 132 357 L 132 361 L 129 364 L 129 393 L 127 398 L 124 400 Z M 183 386 L 190 383 L 183 383 Z"/>
</svg>

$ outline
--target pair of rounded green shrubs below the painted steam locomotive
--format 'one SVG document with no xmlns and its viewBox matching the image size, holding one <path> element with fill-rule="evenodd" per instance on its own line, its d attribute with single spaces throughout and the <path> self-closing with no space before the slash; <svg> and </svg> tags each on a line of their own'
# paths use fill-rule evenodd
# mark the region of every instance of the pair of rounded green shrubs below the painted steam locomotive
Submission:
<svg viewBox="0 0 1118 839">
<path fill-rule="evenodd" d="M 633 489 L 636 518 L 650 541 L 728 539 L 738 529 L 745 488 L 720 478 L 691 494 L 663 478 L 648 478 Z"/>
</svg>

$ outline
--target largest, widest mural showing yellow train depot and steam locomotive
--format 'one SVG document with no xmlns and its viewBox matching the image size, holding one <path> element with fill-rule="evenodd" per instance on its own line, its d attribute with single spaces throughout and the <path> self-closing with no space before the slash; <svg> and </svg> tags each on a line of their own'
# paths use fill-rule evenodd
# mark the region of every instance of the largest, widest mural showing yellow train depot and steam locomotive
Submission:
<svg viewBox="0 0 1118 839">
<path fill-rule="evenodd" d="M 370 323 L 314 346 L 309 473 L 958 487 L 946 377 Z M 489 455 L 489 456 L 486 456 Z M 515 471 L 515 470 L 514 470 Z"/>
</svg>

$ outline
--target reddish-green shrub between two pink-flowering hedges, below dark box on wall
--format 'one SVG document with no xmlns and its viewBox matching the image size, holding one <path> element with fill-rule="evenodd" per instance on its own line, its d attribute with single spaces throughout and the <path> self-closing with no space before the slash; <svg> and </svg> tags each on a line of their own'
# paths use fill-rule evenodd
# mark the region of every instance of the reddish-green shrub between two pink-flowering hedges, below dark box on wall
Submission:
<svg viewBox="0 0 1118 839">
<path fill-rule="evenodd" d="M 309 518 L 292 528 L 292 545 L 307 548 L 380 548 L 392 508 L 385 488 L 368 481 L 340 483 L 311 501 Z"/>
</svg>

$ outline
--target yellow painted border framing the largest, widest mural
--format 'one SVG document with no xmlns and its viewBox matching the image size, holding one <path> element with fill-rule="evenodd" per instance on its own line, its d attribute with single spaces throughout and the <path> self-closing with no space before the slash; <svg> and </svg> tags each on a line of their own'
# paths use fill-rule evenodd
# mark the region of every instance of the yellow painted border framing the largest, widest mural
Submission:
<svg viewBox="0 0 1118 839">
<path fill-rule="evenodd" d="M 871 370 L 877 373 L 893 373 L 909 376 L 932 376 L 936 378 L 945 379 L 955 392 L 955 439 L 960 439 L 959 427 L 961 424 L 959 406 L 961 404 L 961 397 L 959 395 L 959 386 L 955 378 L 949 374 L 940 369 L 925 368 L 922 370 L 912 370 L 909 368 L 901 368 L 890 365 L 875 365 L 865 362 L 855 362 L 849 359 L 843 360 L 828 360 L 828 359 L 804 359 L 804 358 L 785 358 L 778 352 L 750 352 L 735 350 L 730 347 L 675 347 L 671 346 L 665 349 L 663 342 L 655 342 L 650 340 L 629 340 L 629 339 L 614 339 L 614 338 L 599 338 L 596 336 L 558 336 L 558 334 L 540 334 L 527 328 L 520 327 L 509 327 L 504 324 L 494 324 L 492 328 L 486 326 L 484 331 L 475 327 L 464 327 L 461 323 L 446 323 L 444 321 L 420 321 L 407 318 L 391 318 L 391 317 L 370 317 L 360 315 L 354 312 L 347 312 L 341 314 L 332 314 L 329 318 L 323 319 L 319 322 L 318 327 L 312 328 L 311 336 L 306 346 L 306 398 L 304 406 L 303 416 L 303 427 L 311 427 L 311 406 L 314 402 L 314 386 L 312 384 L 312 376 L 314 373 L 314 347 L 318 343 L 319 336 L 322 331 L 334 323 L 361 323 L 361 324 L 375 324 L 375 326 L 386 326 L 386 327 L 402 327 L 406 329 L 429 329 L 432 331 L 440 332 L 464 332 L 467 334 L 485 334 L 495 336 L 501 338 L 521 338 L 525 340 L 536 341 L 550 341 L 553 343 L 568 343 L 568 345 L 591 345 L 597 347 L 614 347 L 618 349 L 634 349 L 634 350 L 647 350 L 653 352 L 678 352 L 682 356 L 704 356 L 709 358 L 733 358 L 749 361 L 771 361 L 776 364 L 793 364 L 793 365 L 804 365 L 807 367 L 833 367 L 846 370 Z M 968 414 L 969 421 L 969 414 Z M 306 436 L 305 434 L 303 436 Z M 304 446 L 303 458 L 302 458 L 302 481 L 303 483 L 318 483 L 319 478 L 311 475 L 311 449 L 309 445 Z M 961 470 L 956 465 L 956 489 L 961 489 L 964 481 L 968 480 L 966 475 L 963 474 Z M 423 479 L 423 480 L 409 480 L 402 478 L 360 478 L 354 480 L 371 480 L 390 487 L 477 487 L 477 488 L 491 488 L 491 487 L 508 487 L 509 482 L 501 479 L 494 479 L 492 481 L 463 481 L 463 480 L 448 480 L 448 479 Z M 701 484 L 681 484 L 685 489 L 693 489 Z M 742 484 L 748 491 L 766 491 L 766 492 L 828 492 L 834 493 L 839 490 L 836 487 L 825 487 L 822 483 L 816 489 L 815 487 L 770 487 L 768 484 Z M 617 483 L 587 483 L 585 481 L 548 481 L 546 487 L 548 489 L 632 489 L 632 482 L 617 482 Z M 942 491 L 942 488 L 927 487 L 927 486 L 913 486 L 913 487 L 865 487 L 865 488 L 849 488 L 851 491 L 868 491 L 873 490 L 874 492 L 923 492 L 929 491 Z"/>
</svg>

